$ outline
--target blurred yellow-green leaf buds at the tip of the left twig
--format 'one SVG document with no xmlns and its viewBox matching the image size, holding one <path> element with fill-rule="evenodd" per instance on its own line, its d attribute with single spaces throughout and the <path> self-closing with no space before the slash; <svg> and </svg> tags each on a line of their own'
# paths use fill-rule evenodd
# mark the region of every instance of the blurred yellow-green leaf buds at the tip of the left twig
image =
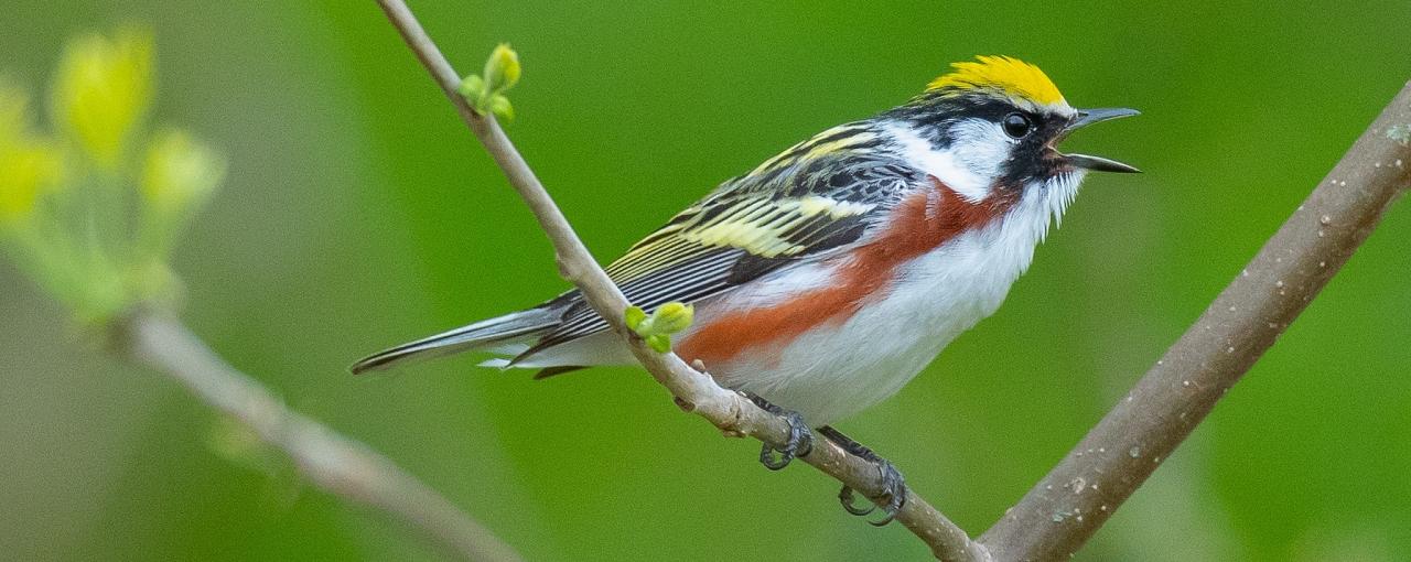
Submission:
<svg viewBox="0 0 1411 562">
<path fill-rule="evenodd" d="M 49 88 L 52 134 L 0 85 L 0 243 L 82 322 L 169 299 L 176 234 L 224 175 L 185 131 L 143 143 L 151 75 L 150 32 L 78 35 Z"/>
</svg>

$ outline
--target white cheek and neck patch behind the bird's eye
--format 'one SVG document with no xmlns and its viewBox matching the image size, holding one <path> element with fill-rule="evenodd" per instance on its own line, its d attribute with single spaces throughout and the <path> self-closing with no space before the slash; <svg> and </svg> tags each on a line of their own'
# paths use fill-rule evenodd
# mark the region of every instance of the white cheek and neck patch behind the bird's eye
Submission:
<svg viewBox="0 0 1411 562">
<path fill-rule="evenodd" d="M 952 126 L 955 138 L 965 138 L 940 151 L 910 127 L 892 124 L 888 131 L 896 138 L 902 155 L 917 162 L 926 174 L 934 175 L 971 202 L 989 195 L 993 178 L 1009 158 L 1013 141 L 999 124 L 982 119 L 967 119 Z"/>
</svg>

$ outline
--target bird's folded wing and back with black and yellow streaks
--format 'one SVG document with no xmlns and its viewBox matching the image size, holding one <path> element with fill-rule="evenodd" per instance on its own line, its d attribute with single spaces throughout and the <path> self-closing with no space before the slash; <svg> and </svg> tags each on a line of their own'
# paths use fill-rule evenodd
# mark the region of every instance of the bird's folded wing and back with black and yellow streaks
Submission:
<svg viewBox="0 0 1411 562">
<path fill-rule="evenodd" d="M 845 250 L 924 175 L 873 150 L 879 134 L 851 123 L 790 147 L 749 175 L 731 179 L 634 244 L 607 267 L 634 305 L 698 302 L 790 263 Z M 515 357 L 607 329 L 570 291 L 545 306 L 563 322 Z"/>
</svg>

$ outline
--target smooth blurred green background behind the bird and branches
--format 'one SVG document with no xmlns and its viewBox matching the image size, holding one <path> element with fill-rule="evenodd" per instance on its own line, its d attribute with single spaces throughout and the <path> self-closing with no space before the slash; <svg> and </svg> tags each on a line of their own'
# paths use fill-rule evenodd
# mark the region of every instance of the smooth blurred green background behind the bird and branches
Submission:
<svg viewBox="0 0 1411 562">
<path fill-rule="evenodd" d="M 840 426 L 979 532 L 1081 438 L 1411 78 L 1411 3 L 415 1 L 450 59 L 519 51 L 509 133 L 608 258 L 714 184 L 916 93 L 952 61 L 1041 65 L 1132 106 L 1000 312 Z M 230 178 L 178 251 L 185 318 L 291 405 L 365 441 L 531 559 L 913 559 L 835 484 L 756 462 L 634 369 L 549 381 L 361 354 L 564 288 L 529 213 L 371 1 L 10 0 L 0 66 L 151 25 L 157 123 Z M 1411 215 L 1403 205 L 1085 561 L 1411 558 Z M 114 363 L 0 263 L 7 559 L 436 559 L 377 514 L 231 455 L 178 385 Z M 219 443 L 227 443 L 222 446 Z"/>
</svg>

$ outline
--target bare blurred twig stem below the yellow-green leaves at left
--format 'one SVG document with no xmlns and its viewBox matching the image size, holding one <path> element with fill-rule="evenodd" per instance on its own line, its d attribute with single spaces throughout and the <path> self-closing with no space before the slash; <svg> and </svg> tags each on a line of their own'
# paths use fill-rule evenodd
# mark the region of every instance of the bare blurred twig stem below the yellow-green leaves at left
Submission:
<svg viewBox="0 0 1411 562">
<path fill-rule="evenodd" d="M 282 449 L 315 484 L 399 518 L 449 554 L 468 561 L 519 561 L 508 545 L 449 500 L 365 445 L 285 407 L 264 385 L 226 364 L 181 322 L 148 312 L 128 316 L 119 345 L 185 384 L 198 398 Z"/>
</svg>

